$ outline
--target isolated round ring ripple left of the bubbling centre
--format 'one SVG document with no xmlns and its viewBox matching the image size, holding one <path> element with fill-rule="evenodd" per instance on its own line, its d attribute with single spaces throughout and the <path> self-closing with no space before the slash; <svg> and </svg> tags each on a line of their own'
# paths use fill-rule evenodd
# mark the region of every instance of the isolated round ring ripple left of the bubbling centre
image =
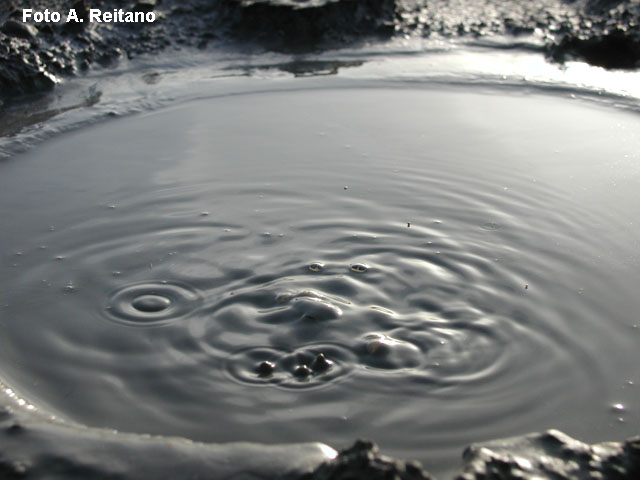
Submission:
<svg viewBox="0 0 640 480">
<path fill-rule="evenodd" d="M 142 282 L 113 292 L 104 311 L 116 322 L 155 326 L 184 319 L 199 303 L 198 292 L 186 285 Z"/>
</svg>

